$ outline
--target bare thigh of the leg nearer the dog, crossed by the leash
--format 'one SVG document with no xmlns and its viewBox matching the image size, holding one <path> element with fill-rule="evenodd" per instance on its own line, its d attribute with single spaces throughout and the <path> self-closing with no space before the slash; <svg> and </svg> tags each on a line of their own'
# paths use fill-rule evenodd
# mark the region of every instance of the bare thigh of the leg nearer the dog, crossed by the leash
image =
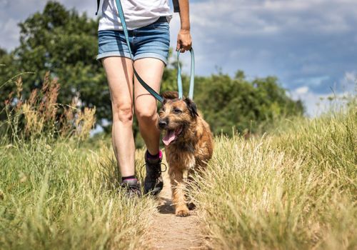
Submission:
<svg viewBox="0 0 357 250">
<path fill-rule="evenodd" d="M 143 58 L 135 61 L 135 69 L 139 76 L 156 92 L 160 91 L 165 64 L 160 59 Z M 134 79 L 134 101 L 136 111 L 151 110 L 156 112 L 156 99 Z"/>
</svg>

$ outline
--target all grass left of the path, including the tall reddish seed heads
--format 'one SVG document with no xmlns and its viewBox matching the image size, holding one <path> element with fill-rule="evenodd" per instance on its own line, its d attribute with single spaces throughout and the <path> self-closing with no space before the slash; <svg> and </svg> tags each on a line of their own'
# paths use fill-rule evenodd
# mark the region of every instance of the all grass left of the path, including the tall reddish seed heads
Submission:
<svg viewBox="0 0 357 250">
<path fill-rule="evenodd" d="M 128 199 L 109 143 L 87 141 L 95 109 L 57 104 L 48 74 L 27 100 L 17 86 L 0 121 L 0 249 L 142 248 L 154 201 Z"/>
</svg>

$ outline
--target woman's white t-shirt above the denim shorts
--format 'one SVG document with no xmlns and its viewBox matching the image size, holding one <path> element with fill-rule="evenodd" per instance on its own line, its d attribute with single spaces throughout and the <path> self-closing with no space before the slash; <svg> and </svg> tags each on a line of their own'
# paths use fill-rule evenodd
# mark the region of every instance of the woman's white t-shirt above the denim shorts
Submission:
<svg viewBox="0 0 357 250">
<path fill-rule="evenodd" d="M 129 30 L 154 23 L 160 16 L 171 20 L 169 0 L 121 0 L 126 26 Z M 123 30 L 115 0 L 104 0 L 99 19 L 99 31 Z"/>
</svg>

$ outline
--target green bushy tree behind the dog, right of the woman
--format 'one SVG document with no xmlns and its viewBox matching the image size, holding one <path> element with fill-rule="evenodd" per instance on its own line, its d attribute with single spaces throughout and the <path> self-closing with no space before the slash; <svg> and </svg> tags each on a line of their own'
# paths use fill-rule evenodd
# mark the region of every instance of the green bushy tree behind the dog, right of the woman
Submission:
<svg viewBox="0 0 357 250">
<path fill-rule="evenodd" d="M 237 71 L 234 78 L 220 73 L 196 82 L 195 101 L 216 134 L 231 134 L 232 127 L 255 132 L 281 116 L 303 114 L 301 101 L 291 100 L 273 76 L 248 81 Z"/>
</svg>

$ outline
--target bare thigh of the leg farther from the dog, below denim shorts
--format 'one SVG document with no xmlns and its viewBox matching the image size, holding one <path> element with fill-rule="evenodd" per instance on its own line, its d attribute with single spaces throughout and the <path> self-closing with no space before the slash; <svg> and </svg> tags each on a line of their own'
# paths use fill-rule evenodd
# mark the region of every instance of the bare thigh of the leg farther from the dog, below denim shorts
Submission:
<svg viewBox="0 0 357 250">
<path fill-rule="evenodd" d="M 102 59 L 114 107 L 133 106 L 133 66 L 131 59 L 110 56 Z"/>
</svg>

